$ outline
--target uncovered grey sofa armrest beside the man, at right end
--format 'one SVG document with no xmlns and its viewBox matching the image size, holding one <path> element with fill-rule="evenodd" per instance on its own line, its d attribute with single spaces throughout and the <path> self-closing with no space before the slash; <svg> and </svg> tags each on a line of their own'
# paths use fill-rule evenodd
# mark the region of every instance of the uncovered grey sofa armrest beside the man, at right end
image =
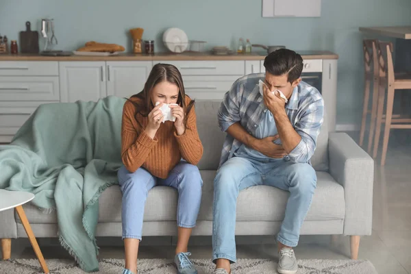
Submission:
<svg viewBox="0 0 411 274">
<path fill-rule="evenodd" d="M 344 235 L 371 235 L 374 160 L 345 133 L 328 138 L 329 173 L 344 188 Z"/>
</svg>

